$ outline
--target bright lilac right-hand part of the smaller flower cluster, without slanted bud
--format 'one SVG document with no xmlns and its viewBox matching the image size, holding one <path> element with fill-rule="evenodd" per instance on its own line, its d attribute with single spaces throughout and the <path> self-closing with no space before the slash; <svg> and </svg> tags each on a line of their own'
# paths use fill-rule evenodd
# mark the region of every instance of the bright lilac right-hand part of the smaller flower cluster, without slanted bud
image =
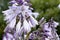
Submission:
<svg viewBox="0 0 60 40">
<path fill-rule="evenodd" d="M 43 32 L 44 32 L 44 35 L 46 35 L 46 36 L 48 35 L 47 39 L 51 39 L 51 40 L 57 39 L 57 40 L 59 40 L 59 37 L 58 37 L 58 35 L 56 33 L 56 30 L 55 30 L 55 27 L 57 27 L 58 25 L 59 25 L 59 23 L 55 22 L 53 20 L 44 24 Z M 45 40 L 47 40 L 47 39 L 45 38 Z"/>
</svg>

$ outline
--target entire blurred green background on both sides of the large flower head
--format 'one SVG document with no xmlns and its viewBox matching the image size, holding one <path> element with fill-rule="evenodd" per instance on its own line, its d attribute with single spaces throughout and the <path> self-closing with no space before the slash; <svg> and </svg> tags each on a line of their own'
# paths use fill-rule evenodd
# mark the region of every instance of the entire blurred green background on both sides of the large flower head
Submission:
<svg viewBox="0 0 60 40">
<path fill-rule="evenodd" d="M 6 27 L 2 11 L 8 9 L 9 1 L 0 0 L 0 40 L 2 40 L 3 30 Z M 60 9 L 58 8 L 60 0 L 31 0 L 31 3 L 34 11 L 39 12 L 38 21 L 42 17 L 45 17 L 47 21 L 53 17 L 55 21 L 60 23 Z M 57 27 L 57 33 L 60 34 L 60 24 Z"/>
</svg>

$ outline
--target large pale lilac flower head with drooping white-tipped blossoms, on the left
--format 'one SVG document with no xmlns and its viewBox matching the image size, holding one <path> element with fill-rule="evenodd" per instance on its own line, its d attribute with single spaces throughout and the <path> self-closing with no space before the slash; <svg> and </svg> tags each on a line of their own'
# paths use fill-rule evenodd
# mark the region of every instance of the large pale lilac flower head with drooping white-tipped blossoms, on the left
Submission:
<svg viewBox="0 0 60 40">
<path fill-rule="evenodd" d="M 19 5 L 16 2 L 13 3 L 12 6 L 9 6 L 8 10 L 2 11 L 2 13 L 4 13 L 5 16 L 4 20 L 7 23 L 4 32 L 11 33 L 14 31 L 13 36 L 15 37 L 15 39 L 21 37 L 23 33 L 30 32 L 32 27 L 38 25 L 38 22 L 35 19 L 38 16 L 38 13 L 33 13 L 31 9 L 29 9 L 31 7 L 25 5 L 27 3 L 26 1 L 19 1 L 23 1 L 23 4 Z"/>
</svg>

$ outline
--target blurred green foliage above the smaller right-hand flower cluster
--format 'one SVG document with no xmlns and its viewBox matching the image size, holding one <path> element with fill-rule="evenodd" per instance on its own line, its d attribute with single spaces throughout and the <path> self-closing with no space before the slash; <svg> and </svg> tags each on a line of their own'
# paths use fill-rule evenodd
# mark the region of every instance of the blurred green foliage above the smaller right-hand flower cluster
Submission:
<svg viewBox="0 0 60 40">
<path fill-rule="evenodd" d="M 45 17 L 48 21 L 53 17 L 55 21 L 60 23 L 60 9 L 58 8 L 60 0 L 31 0 L 31 3 L 34 10 L 40 14 L 37 20 Z M 57 30 L 58 34 L 60 34 L 60 24 Z"/>
</svg>

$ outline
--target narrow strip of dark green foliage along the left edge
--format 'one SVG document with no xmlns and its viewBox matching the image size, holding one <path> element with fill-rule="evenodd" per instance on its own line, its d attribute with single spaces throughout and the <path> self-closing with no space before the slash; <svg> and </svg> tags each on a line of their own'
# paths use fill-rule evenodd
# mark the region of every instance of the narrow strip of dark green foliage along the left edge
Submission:
<svg viewBox="0 0 60 40">
<path fill-rule="evenodd" d="M 3 30 L 6 26 L 2 11 L 8 8 L 8 0 L 0 0 L 0 40 L 2 40 Z"/>
</svg>

